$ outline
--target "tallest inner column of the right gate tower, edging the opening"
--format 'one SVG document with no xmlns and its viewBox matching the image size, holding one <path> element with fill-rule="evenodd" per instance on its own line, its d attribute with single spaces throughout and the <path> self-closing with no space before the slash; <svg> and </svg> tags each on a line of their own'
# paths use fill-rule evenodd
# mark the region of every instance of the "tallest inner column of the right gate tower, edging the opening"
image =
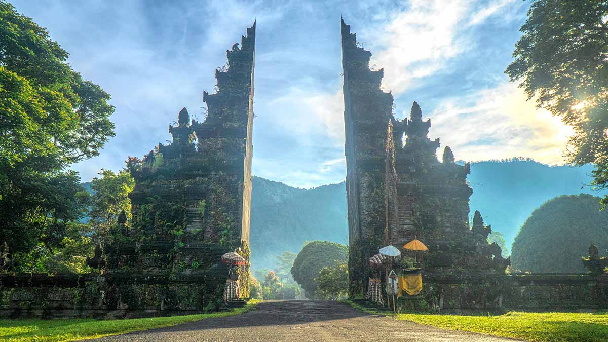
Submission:
<svg viewBox="0 0 608 342">
<path fill-rule="evenodd" d="M 380 89 L 382 69 L 369 68 L 371 52 L 359 46 L 342 21 L 348 276 L 350 293 L 364 293 L 367 259 L 382 245 L 385 229 L 385 140 L 393 96 Z M 384 129 L 382 129 L 384 127 Z M 380 128 L 380 129 L 379 129 Z"/>
</svg>

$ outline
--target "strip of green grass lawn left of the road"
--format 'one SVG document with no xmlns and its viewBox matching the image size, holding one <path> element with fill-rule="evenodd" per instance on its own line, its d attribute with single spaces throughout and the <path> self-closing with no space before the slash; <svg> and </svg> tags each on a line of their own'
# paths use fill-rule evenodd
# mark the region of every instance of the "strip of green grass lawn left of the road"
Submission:
<svg viewBox="0 0 608 342">
<path fill-rule="evenodd" d="M 60 342 L 88 340 L 109 335 L 174 326 L 199 319 L 226 317 L 246 312 L 255 305 L 252 300 L 242 309 L 228 312 L 202 313 L 199 315 L 112 319 L 2 319 L 0 320 L 0 340 L 7 342 Z"/>
</svg>

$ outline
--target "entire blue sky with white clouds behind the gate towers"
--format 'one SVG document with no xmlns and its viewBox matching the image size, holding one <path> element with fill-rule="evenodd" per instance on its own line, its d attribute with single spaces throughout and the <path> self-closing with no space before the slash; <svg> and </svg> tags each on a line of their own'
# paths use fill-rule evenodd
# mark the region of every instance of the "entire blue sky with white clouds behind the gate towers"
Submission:
<svg viewBox="0 0 608 342">
<path fill-rule="evenodd" d="M 257 21 L 254 175 L 296 187 L 345 178 L 340 16 L 384 68 L 395 116 L 417 101 L 429 138 L 456 159 L 523 156 L 563 164 L 570 128 L 504 74 L 528 2 L 13 0 L 112 96 L 116 136 L 75 164 L 83 181 L 170 139 L 186 107 L 203 118 L 226 49 Z"/>
</svg>

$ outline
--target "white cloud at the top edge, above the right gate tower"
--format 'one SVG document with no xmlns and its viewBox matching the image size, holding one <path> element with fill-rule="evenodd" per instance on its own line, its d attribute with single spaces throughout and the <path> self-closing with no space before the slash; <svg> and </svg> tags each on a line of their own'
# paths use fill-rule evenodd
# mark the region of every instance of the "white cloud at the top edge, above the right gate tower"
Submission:
<svg viewBox="0 0 608 342">
<path fill-rule="evenodd" d="M 480 5 L 474 1 L 412 0 L 384 26 L 363 30 L 361 41 L 373 52 L 370 65 L 384 68 L 382 87 L 400 94 L 472 49 L 469 28 L 515 1 L 497 0 L 475 11 Z"/>
</svg>

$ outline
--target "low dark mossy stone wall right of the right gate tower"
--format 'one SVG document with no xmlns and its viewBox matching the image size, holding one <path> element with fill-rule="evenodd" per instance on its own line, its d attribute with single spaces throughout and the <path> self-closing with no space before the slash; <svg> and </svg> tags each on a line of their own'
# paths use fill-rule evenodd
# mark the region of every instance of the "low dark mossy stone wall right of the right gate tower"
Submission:
<svg viewBox="0 0 608 342">
<path fill-rule="evenodd" d="M 402 311 L 443 313 L 599 311 L 608 308 L 607 295 L 608 275 L 423 273 L 423 291 L 397 304 Z"/>
</svg>

